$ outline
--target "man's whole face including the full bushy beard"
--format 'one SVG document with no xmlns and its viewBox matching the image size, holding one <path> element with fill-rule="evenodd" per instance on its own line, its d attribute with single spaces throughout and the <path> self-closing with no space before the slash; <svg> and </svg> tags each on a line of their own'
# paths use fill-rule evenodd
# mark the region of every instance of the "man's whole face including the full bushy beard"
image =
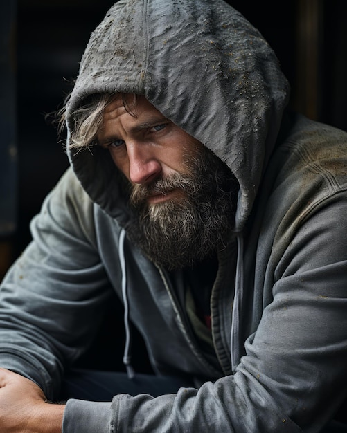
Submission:
<svg viewBox="0 0 347 433">
<path fill-rule="evenodd" d="M 109 104 L 98 133 L 131 185 L 128 235 L 157 264 L 191 266 L 224 248 L 238 184 L 222 161 L 142 96 Z"/>
</svg>

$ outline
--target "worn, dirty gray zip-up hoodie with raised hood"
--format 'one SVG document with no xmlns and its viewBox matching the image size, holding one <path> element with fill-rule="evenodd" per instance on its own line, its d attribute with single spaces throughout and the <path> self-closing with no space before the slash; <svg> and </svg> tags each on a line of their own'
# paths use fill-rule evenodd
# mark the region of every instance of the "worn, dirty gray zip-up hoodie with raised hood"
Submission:
<svg viewBox="0 0 347 433">
<path fill-rule="evenodd" d="M 219 366 L 181 311 L 184 286 L 127 239 L 125 194 L 98 147 L 68 150 L 71 169 L 3 281 L 0 365 L 54 398 L 96 332 L 85 317 L 101 320 L 111 286 L 154 370 L 197 386 L 69 400 L 64 433 L 319 432 L 346 398 L 346 133 L 283 115 L 276 56 L 222 0 L 118 1 L 82 57 L 69 132 L 88 95 L 120 91 L 145 95 L 238 179 L 237 246 L 220 254 L 211 296 Z"/>
</svg>

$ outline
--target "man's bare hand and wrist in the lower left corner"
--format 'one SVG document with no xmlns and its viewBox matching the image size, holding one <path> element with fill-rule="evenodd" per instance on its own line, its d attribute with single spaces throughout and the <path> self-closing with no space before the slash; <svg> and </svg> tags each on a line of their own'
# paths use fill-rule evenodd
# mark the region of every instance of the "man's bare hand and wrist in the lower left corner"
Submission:
<svg viewBox="0 0 347 433">
<path fill-rule="evenodd" d="M 0 368 L 1 433 L 61 433 L 64 407 L 46 403 L 35 383 Z"/>
</svg>

